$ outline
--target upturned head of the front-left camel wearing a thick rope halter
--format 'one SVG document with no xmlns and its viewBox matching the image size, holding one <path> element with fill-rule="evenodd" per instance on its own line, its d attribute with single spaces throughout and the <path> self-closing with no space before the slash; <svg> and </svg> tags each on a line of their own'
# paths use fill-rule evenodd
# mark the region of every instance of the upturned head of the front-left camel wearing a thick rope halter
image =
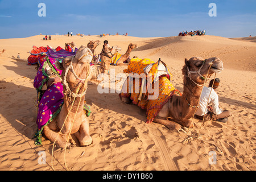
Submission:
<svg viewBox="0 0 256 182">
<path fill-rule="evenodd" d="M 63 70 L 61 78 L 63 85 L 65 85 L 64 92 L 65 90 L 73 90 L 72 92 L 75 92 L 74 90 L 78 88 L 80 83 L 87 84 L 90 79 L 89 63 L 92 61 L 92 58 L 92 51 L 85 46 L 81 46 L 75 56 L 66 57 L 62 63 L 56 61 L 55 65 L 57 69 Z"/>
</svg>

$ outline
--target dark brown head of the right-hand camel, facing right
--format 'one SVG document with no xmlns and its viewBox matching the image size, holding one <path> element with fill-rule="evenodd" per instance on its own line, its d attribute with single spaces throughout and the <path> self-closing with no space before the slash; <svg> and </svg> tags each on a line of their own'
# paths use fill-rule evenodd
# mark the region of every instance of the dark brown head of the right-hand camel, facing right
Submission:
<svg viewBox="0 0 256 182">
<path fill-rule="evenodd" d="M 202 85 L 205 79 L 210 78 L 213 73 L 220 73 L 223 69 L 223 63 L 218 57 L 206 60 L 201 57 L 192 57 L 189 60 L 185 59 L 182 71 L 185 77 L 190 78 L 197 85 Z"/>
</svg>

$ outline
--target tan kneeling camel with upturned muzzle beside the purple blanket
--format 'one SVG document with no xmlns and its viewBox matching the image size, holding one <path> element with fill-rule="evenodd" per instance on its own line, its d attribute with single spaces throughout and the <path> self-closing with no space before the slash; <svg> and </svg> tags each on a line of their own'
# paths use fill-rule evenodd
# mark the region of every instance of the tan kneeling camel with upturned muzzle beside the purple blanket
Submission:
<svg viewBox="0 0 256 182">
<path fill-rule="evenodd" d="M 90 79 L 89 63 L 92 61 L 92 57 L 92 51 L 85 46 L 81 46 L 75 56 L 66 57 L 63 63 L 56 61 L 56 67 L 63 70 L 61 78 L 63 80 L 64 105 L 53 121 L 47 126 L 44 126 L 43 131 L 44 135 L 46 135 L 51 142 L 55 142 L 56 140 L 56 145 L 59 148 L 66 147 L 67 136 L 70 132 L 71 134 L 75 134 L 79 139 L 80 146 L 87 146 L 92 143 L 92 138 L 89 135 L 89 122 L 83 109 L 85 90 L 88 80 Z M 56 79 L 56 77 L 51 79 Z M 60 82 L 60 79 L 51 79 L 48 82 Z M 77 90 L 79 85 L 80 90 L 77 93 L 79 95 L 76 97 L 76 93 L 74 93 L 75 91 L 73 90 Z M 74 104 L 72 107 L 73 101 Z M 63 129 L 61 130 L 60 136 L 57 138 L 61 127 L 63 127 Z M 70 145 L 71 143 L 68 142 L 67 147 Z"/>
</svg>

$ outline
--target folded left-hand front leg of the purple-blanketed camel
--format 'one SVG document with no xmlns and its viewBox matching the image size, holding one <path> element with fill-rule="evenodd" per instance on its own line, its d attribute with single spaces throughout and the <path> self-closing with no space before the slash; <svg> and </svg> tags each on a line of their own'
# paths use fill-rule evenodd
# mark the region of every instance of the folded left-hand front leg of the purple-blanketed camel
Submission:
<svg viewBox="0 0 256 182">
<path fill-rule="evenodd" d="M 43 131 L 44 135 L 46 135 L 46 138 L 48 138 L 52 143 L 54 143 L 59 134 L 55 122 L 51 122 L 49 123 L 49 125 L 44 126 Z M 55 143 L 57 147 L 65 148 L 67 143 L 67 135 L 61 133 Z M 71 143 L 68 142 L 67 147 L 69 146 L 71 146 Z"/>
</svg>

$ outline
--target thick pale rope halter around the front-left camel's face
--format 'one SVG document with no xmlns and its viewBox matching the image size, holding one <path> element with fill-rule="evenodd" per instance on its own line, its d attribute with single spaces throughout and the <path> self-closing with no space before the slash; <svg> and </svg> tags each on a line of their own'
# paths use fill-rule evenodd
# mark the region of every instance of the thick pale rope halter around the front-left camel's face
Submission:
<svg viewBox="0 0 256 182">
<path fill-rule="evenodd" d="M 89 55 L 89 52 L 88 52 L 85 56 L 88 56 L 88 55 Z M 82 56 L 82 57 L 84 57 L 84 56 Z M 81 59 L 82 59 L 82 57 L 81 57 Z M 75 58 L 75 56 L 74 56 L 73 58 Z M 89 68 L 90 68 L 90 67 L 89 67 Z M 65 91 L 65 93 L 66 93 L 66 94 L 69 94 L 69 96 L 71 96 L 71 97 L 82 97 L 82 96 L 84 96 L 85 93 L 86 93 L 86 89 L 85 89 L 85 91 L 84 91 L 83 93 L 76 94 L 76 93 L 72 92 L 71 89 L 69 88 L 69 85 L 68 85 L 68 82 L 67 82 L 67 75 L 68 75 L 69 69 L 71 69 L 71 71 L 72 71 L 73 75 L 76 77 L 76 79 L 79 80 L 79 84 L 85 83 L 85 81 L 88 80 L 89 75 L 90 75 L 90 73 L 91 73 L 91 70 L 89 69 L 89 72 L 88 72 L 88 74 L 86 75 L 86 77 L 85 77 L 84 79 L 79 78 L 79 77 L 76 75 L 76 72 L 75 72 L 75 70 L 74 70 L 74 68 L 73 68 L 73 64 L 72 64 L 72 61 L 71 61 L 71 63 L 68 65 L 68 67 L 67 67 L 67 69 L 66 69 L 66 71 L 65 71 L 65 75 L 64 75 L 64 79 L 63 79 L 63 85 L 65 85 L 65 86 L 66 86 L 66 89 L 67 89 L 67 90 Z"/>
</svg>

